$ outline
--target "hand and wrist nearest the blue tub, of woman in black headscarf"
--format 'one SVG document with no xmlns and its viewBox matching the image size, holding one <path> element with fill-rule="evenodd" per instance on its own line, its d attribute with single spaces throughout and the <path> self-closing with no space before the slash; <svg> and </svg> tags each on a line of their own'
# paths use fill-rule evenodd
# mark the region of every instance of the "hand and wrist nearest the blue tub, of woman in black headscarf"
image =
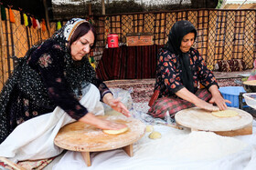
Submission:
<svg viewBox="0 0 256 170">
<path fill-rule="evenodd" d="M 228 106 L 226 105 L 226 103 L 231 104 L 231 102 L 229 100 L 224 99 L 221 94 L 219 93 L 219 89 L 217 85 L 211 85 L 209 87 L 209 91 L 212 95 L 211 99 L 209 100 L 210 104 L 216 104 L 218 105 L 220 110 L 225 110 L 228 108 Z"/>
</svg>

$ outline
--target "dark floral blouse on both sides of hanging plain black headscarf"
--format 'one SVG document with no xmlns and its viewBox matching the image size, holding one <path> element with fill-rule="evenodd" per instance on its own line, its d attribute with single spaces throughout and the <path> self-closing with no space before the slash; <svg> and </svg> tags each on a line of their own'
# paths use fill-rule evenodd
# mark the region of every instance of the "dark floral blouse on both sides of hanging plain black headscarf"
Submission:
<svg viewBox="0 0 256 170">
<path fill-rule="evenodd" d="M 203 57 L 196 49 L 190 48 L 188 56 L 195 92 L 197 92 L 198 83 L 206 88 L 211 85 L 218 85 L 213 73 L 208 70 Z M 178 55 L 171 54 L 164 48 L 159 51 L 155 83 L 155 89 L 160 89 L 159 97 L 174 96 L 178 90 L 185 87 L 180 76 L 182 70 L 180 69 L 178 57 Z"/>
</svg>

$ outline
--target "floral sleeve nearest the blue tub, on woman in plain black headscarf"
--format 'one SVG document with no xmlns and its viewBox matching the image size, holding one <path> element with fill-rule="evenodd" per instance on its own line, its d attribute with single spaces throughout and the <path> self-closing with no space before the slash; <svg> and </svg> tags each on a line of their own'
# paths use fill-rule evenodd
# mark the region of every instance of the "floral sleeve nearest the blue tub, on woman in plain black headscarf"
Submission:
<svg viewBox="0 0 256 170">
<path fill-rule="evenodd" d="M 218 85 L 212 71 L 208 70 L 208 67 L 204 62 L 203 57 L 198 53 L 197 50 L 194 50 L 194 52 L 195 55 L 197 55 L 198 80 L 200 81 L 200 83 L 204 85 L 207 89 L 211 85 Z"/>
</svg>

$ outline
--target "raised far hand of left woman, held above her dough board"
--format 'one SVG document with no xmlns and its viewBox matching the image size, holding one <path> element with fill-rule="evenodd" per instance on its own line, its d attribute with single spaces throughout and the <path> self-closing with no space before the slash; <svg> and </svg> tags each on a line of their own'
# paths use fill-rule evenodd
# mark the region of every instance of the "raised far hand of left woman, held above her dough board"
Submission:
<svg viewBox="0 0 256 170">
<path fill-rule="evenodd" d="M 110 105 L 113 110 L 122 113 L 123 115 L 129 117 L 129 110 L 126 108 L 125 105 L 119 100 L 113 98 L 111 94 L 106 94 L 103 97 L 103 102 L 107 105 Z"/>
</svg>

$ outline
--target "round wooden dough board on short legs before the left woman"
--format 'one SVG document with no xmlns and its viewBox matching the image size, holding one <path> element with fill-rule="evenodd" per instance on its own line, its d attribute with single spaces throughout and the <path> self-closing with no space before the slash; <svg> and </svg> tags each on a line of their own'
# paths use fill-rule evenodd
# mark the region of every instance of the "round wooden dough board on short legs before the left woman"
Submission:
<svg viewBox="0 0 256 170">
<path fill-rule="evenodd" d="M 55 145 L 71 151 L 80 151 L 88 166 L 91 165 L 90 152 L 123 147 L 127 155 L 133 156 L 133 143 L 144 135 L 145 125 L 137 119 L 123 115 L 99 117 L 126 124 L 128 130 L 120 135 L 107 135 L 92 125 L 74 122 L 59 130 L 54 139 Z"/>
</svg>

